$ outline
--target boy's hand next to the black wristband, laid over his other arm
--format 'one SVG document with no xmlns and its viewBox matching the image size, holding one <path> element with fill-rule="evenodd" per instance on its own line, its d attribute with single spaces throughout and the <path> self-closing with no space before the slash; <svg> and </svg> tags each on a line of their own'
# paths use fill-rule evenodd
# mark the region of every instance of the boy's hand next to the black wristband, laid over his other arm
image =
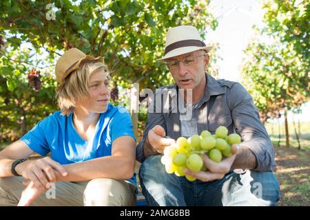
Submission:
<svg viewBox="0 0 310 220">
<path fill-rule="evenodd" d="M 34 185 L 39 190 L 45 190 L 48 188 L 49 182 L 56 181 L 55 170 L 63 176 L 68 175 L 65 168 L 50 159 L 50 157 L 25 161 L 17 165 L 15 169 L 19 175 L 22 175 L 25 179 L 33 181 Z"/>
</svg>

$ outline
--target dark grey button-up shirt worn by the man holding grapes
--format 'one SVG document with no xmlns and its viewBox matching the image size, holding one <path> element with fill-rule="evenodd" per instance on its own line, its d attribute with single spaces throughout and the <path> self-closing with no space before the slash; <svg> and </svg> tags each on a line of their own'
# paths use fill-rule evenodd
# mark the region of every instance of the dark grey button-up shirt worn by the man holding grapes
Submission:
<svg viewBox="0 0 310 220">
<path fill-rule="evenodd" d="M 238 133 L 242 138 L 241 146 L 247 146 L 251 149 L 257 159 L 258 171 L 272 171 L 276 162 L 275 152 L 265 126 L 260 122 L 258 109 L 255 107 L 253 98 L 240 83 L 231 82 L 228 80 L 216 80 L 206 74 L 207 86 L 203 98 L 192 106 L 192 119 L 187 122 L 180 121 L 180 112 L 169 102 L 167 111 L 155 111 L 162 109 L 161 103 L 166 103 L 165 100 L 160 104 L 152 102 L 154 111 L 148 113 L 147 124 L 143 140 L 138 143 L 136 148 L 136 159 L 143 162 L 143 144 L 145 137 L 150 129 L 156 124 L 165 129 L 166 135 L 175 140 L 181 135 L 189 136 L 193 131 L 198 134 L 203 130 L 209 130 L 215 133 L 218 126 L 226 126 L 229 133 Z M 161 88 L 162 91 L 178 89 L 176 85 Z M 156 92 L 158 94 L 158 92 Z M 154 95 L 156 97 L 156 94 Z M 172 93 L 169 99 L 176 98 L 177 94 Z M 211 99 L 210 99 L 211 98 Z M 154 98 L 154 100 L 156 100 Z M 211 101 L 210 101 L 211 100 Z M 212 104 L 210 104 L 212 102 Z M 208 109 L 210 107 L 210 109 Z M 194 128 L 190 131 L 181 131 L 182 128 L 194 124 Z"/>
</svg>

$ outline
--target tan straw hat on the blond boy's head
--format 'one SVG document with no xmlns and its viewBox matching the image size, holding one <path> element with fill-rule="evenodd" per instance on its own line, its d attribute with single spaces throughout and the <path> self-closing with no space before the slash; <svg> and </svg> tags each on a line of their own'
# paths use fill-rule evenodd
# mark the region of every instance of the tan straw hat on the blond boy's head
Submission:
<svg viewBox="0 0 310 220">
<path fill-rule="evenodd" d="M 62 83 L 71 72 L 79 69 L 83 61 L 99 61 L 105 63 L 104 58 L 101 56 L 94 57 L 86 55 L 77 48 L 71 48 L 70 50 L 67 50 L 56 63 L 56 80 L 59 81 L 59 83 Z"/>
</svg>

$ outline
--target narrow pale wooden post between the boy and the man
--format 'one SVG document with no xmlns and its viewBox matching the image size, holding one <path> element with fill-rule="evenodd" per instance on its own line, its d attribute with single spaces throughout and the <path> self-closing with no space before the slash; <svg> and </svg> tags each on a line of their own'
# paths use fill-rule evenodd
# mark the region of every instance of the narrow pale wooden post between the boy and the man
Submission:
<svg viewBox="0 0 310 220">
<path fill-rule="evenodd" d="M 130 100 L 130 114 L 132 115 L 132 126 L 134 129 L 134 137 L 138 140 L 138 101 L 139 101 L 139 84 L 132 85 L 132 93 Z"/>
</svg>

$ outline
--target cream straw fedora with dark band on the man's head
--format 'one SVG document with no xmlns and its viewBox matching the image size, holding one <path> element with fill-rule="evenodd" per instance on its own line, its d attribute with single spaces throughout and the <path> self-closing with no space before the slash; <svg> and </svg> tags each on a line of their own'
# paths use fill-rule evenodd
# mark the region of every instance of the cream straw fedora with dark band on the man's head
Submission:
<svg viewBox="0 0 310 220">
<path fill-rule="evenodd" d="M 187 54 L 196 50 L 206 50 L 209 52 L 212 46 L 203 43 L 198 30 L 191 25 L 182 25 L 170 28 L 167 32 L 165 54 L 163 58 L 156 61 L 165 61 L 167 58 Z"/>
</svg>

